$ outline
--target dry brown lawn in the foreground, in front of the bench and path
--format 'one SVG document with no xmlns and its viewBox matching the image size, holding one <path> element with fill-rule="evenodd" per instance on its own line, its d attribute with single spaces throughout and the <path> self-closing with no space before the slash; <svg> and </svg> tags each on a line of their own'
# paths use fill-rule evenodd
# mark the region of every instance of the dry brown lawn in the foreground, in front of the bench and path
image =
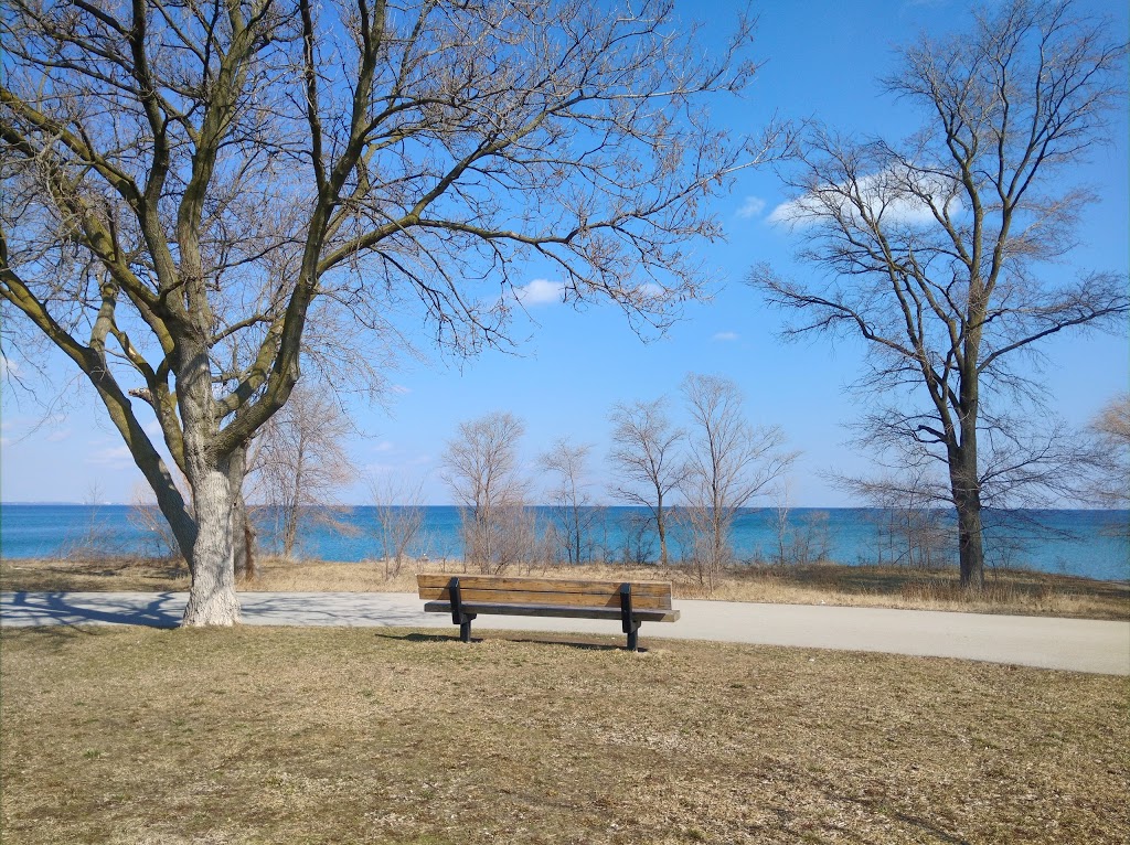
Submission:
<svg viewBox="0 0 1130 845">
<path fill-rule="evenodd" d="M 6 845 L 1123 843 L 1127 679 L 373 629 L 5 630 Z"/>
</svg>

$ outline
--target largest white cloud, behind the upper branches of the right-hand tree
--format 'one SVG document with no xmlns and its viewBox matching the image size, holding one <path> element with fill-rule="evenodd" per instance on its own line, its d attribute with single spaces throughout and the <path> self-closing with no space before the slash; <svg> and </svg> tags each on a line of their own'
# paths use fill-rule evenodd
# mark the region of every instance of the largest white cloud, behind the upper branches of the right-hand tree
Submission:
<svg viewBox="0 0 1130 845">
<path fill-rule="evenodd" d="M 962 201 L 955 195 L 955 186 L 953 180 L 940 174 L 893 166 L 861 176 L 854 184 L 827 185 L 822 195 L 807 193 L 782 202 L 766 219 L 793 228 L 810 226 L 829 214 L 857 219 L 854 200 L 859 200 L 884 223 L 928 225 L 935 220 L 935 209 L 945 207 L 951 216 L 960 211 Z"/>
</svg>

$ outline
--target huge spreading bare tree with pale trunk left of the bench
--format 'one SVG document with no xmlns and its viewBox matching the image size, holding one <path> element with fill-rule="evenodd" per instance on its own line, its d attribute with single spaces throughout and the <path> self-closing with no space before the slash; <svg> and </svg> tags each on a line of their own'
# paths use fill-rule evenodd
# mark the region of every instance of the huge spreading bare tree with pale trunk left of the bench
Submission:
<svg viewBox="0 0 1130 845">
<path fill-rule="evenodd" d="M 703 99 L 750 78 L 749 21 L 705 55 L 669 2 L 3 0 L 0 37 L 3 351 L 46 337 L 89 380 L 186 625 L 238 619 L 245 451 L 328 315 L 354 330 L 327 343 L 403 312 L 504 343 L 537 259 L 662 326 L 719 234 L 703 199 L 757 155 Z"/>
</svg>

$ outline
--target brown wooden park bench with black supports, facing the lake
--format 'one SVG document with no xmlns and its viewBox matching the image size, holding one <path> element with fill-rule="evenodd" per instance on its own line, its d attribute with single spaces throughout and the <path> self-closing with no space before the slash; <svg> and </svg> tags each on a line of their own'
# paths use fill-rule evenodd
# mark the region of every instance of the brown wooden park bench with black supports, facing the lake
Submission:
<svg viewBox="0 0 1130 845">
<path fill-rule="evenodd" d="M 666 581 L 576 581 L 502 575 L 417 575 L 424 610 L 451 613 L 459 638 L 471 638 L 480 613 L 618 619 L 636 651 L 641 622 L 673 622 L 671 585 Z"/>
</svg>

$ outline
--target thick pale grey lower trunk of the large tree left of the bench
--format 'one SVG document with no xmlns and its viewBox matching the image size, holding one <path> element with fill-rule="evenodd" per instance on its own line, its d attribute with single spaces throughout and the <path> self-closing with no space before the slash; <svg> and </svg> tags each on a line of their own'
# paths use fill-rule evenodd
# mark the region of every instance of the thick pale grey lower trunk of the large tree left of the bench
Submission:
<svg viewBox="0 0 1130 845">
<path fill-rule="evenodd" d="M 235 625 L 240 621 L 240 600 L 235 594 L 231 484 L 227 472 L 218 468 L 201 473 L 194 481 L 197 542 L 182 625 Z"/>
</svg>

